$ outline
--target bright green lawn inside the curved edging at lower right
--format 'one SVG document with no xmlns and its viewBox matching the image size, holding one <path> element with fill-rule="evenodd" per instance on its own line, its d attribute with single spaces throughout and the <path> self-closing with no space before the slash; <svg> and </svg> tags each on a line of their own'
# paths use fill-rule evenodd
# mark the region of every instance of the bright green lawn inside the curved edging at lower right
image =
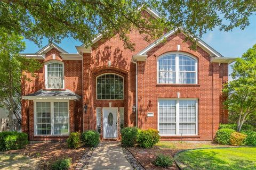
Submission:
<svg viewBox="0 0 256 170">
<path fill-rule="evenodd" d="M 256 169 L 256 148 L 196 149 L 176 157 L 183 169 Z"/>
</svg>

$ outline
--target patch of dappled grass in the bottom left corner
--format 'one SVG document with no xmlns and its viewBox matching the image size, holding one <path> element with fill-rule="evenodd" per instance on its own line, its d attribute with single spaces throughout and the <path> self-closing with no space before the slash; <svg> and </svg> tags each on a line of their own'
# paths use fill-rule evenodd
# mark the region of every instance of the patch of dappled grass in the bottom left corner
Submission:
<svg viewBox="0 0 256 170">
<path fill-rule="evenodd" d="M 1 154 L 0 169 L 36 169 L 38 159 L 29 158 L 19 154 Z"/>
</svg>

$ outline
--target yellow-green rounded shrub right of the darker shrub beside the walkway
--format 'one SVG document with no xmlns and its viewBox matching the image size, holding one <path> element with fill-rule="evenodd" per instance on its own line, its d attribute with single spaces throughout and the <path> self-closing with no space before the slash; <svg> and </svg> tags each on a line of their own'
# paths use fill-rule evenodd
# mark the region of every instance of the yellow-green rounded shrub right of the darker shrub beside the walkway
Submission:
<svg viewBox="0 0 256 170">
<path fill-rule="evenodd" d="M 140 130 L 138 132 L 137 142 L 143 148 L 152 148 L 157 142 L 159 142 L 159 139 L 160 136 L 157 130 Z"/>
</svg>

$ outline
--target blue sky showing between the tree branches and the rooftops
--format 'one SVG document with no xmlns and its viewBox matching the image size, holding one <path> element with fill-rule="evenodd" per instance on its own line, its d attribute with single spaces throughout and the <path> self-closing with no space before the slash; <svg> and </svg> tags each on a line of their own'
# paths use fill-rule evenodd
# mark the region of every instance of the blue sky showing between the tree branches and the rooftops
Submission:
<svg viewBox="0 0 256 170">
<path fill-rule="evenodd" d="M 205 33 L 201 39 L 225 57 L 241 57 L 247 49 L 256 44 L 256 15 L 250 17 L 250 25 L 244 30 L 235 28 L 232 31 L 224 32 L 215 28 Z M 39 47 L 33 42 L 25 41 L 27 48 L 23 53 L 36 53 L 39 50 Z M 47 39 L 44 39 L 42 45 L 47 44 Z M 66 38 L 58 45 L 68 53 L 77 53 L 75 46 L 80 46 L 82 43 L 72 38 Z M 231 68 L 229 66 L 230 73 Z"/>
</svg>

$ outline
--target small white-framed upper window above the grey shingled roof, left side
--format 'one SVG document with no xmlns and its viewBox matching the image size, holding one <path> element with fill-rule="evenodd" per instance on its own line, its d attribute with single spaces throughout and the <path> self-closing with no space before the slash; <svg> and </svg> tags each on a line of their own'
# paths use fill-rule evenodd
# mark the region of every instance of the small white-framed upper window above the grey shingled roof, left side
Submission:
<svg viewBox="0 0 256 170">
<path fill-rule="evenodd" d="M 53 62 L 45 65 L 45 84 L 47 89 L 63 89 L 63 64 Z"/>
</svg>

